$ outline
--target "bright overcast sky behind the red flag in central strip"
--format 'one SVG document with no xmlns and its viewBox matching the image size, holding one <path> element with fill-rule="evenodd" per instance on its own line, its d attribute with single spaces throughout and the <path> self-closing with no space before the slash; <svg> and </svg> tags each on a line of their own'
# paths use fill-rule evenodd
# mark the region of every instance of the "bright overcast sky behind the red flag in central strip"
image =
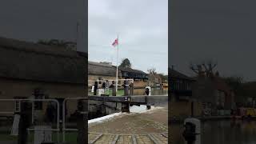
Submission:
<svg viewBox="0 0 256 144">
<path fill-rule="evenodd" d="M 156 68 L 167 74 L 168 0 L 90 0 L 88 11 L 89 60 L 116 64 L 129 58 L 134 69 Z"/>
</svg>

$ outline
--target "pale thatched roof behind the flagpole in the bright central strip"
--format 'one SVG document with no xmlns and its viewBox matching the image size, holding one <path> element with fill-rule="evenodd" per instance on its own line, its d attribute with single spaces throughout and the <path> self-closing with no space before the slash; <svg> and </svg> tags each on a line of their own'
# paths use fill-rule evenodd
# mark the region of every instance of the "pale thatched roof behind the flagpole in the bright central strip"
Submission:
<svg viewBox="0 0 256 144">
<path fill-rule="evenodd" d="M 116 76 L 116 67 L 99 62 L 88 62 L 88 74 L 101 76 Z M 118 70 L 118 76 L 121 76 L 121 71 Z"/>
</svg>

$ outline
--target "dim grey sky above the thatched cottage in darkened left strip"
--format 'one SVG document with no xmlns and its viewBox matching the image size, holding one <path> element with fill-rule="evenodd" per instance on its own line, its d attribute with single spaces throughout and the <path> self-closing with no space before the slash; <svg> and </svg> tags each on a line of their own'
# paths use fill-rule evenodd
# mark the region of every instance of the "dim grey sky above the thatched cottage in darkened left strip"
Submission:
<svg viewBox="0 0 256 144">
<path fill-rule="evenodd" d="M 81 0 L 1 0 L 0 36 L 76 41 Z M 79 7 L 80 6 L 80 7 Z"/>
</svg>

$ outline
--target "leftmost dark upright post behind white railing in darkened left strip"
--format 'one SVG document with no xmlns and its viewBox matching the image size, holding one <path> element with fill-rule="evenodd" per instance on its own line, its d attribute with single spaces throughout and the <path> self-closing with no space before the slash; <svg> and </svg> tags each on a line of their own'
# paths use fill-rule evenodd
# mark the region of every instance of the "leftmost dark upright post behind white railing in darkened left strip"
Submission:
<svg viewBox="0 0 256 144">
<path fill-rule="evenodd" d="M 21 102 L 21 117 L 18 123 L 18 144 L 27 142 L 27 128 L 31 123 L 31 105 L 28 102 Z"/>
</svg>

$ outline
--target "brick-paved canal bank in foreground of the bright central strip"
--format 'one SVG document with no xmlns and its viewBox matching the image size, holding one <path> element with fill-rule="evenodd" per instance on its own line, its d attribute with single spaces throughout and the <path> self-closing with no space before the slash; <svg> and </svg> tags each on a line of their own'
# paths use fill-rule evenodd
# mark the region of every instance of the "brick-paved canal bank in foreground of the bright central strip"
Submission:
<svg viewBox="0 0 256 144">
<path fill-rule="evenodd" d="M 101 122 L 90 123 L 88 130 L 90 134 L 105 135 L 99 138 L 98 142 L 102 142 L 102 139 L 111 142 L 115 138 L 114 135 L 120 135 L 122 137 L 119 138 L 119 143 L 132 143 L 133 136 L 140 142 L 152 143 L 152 136 L 151 138 L 158 142 L 167 143 L 168 107 L 153 107 L 145 112 L 118 114 Z M 89 140 L 93 141 L 94 137 L 90 136 Z"/>
</svg>

